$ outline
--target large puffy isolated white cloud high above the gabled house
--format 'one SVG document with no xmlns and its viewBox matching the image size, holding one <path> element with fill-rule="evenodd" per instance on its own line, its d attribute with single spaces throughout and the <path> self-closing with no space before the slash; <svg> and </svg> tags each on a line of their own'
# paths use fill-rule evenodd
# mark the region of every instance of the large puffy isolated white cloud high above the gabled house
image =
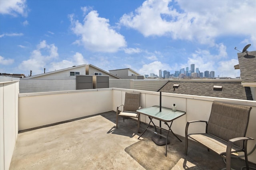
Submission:
<svg viewBox="0 0 256 170">
<path fill-rule="evenodd" d="M 82 44 L 90 51 L 110 53 L 126 47 L 124 36 L 111 29 L 109 20 L 100 18 L 97 11 L 89 12 L 83 23 L 75 21 L 73 17 L 74 15 L 70 15 L 71 29 L 80 37 L 79 40 L 76 40 L 76 44 Z"/>
</svg>

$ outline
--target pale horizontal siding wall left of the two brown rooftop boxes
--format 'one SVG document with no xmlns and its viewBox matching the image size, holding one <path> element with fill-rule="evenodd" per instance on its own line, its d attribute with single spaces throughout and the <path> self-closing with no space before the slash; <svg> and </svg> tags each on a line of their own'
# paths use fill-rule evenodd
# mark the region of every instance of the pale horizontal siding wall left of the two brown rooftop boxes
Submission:
<svg viewBox="0 0 256 170">
<path fill-rule="evenodd" d="M 20 79 L 20 93 L 76 90 L 76 78 Z"/>
</svg>

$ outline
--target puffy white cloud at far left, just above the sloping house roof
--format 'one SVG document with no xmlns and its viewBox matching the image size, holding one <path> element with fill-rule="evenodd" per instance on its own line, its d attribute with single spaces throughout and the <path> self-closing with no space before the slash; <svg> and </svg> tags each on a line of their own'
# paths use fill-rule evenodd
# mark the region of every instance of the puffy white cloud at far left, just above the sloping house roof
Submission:
<svg viewBox="0 0 256 170">
<path fill-rule="evenodd" d="M 41 74 L 43 73 L 43 68 L 46 68 L 57 57 L 58 48 L 54 44 L 48 45 L 44 40 L 32 51 L 30 59 L 22 61 L 18 68 L 26 71 L 32 70 L 33 75 Z"/>
</svg>

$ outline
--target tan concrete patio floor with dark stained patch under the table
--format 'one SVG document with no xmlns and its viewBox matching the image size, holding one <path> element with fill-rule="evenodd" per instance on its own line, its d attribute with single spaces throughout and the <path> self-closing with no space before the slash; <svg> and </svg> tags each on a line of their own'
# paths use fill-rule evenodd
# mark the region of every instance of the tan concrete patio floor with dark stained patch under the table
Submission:
<svg viewBox="0 0 256 170">
<path fill-rule="evenodd" d="M 19 133 L 10 170 L 218 170 L 225 167 L 220 156 L 194 141 L 189 142 L 188 156 L 185 156 L 184 137 L 179 136 L 180 142 L 172 134 L 166 157 L 165 146 L 157 146 L 151 140 L 154 133 L 146 131 L 138 139 L 140 133 L 135 120 L 119 119 L 118 129 L 115 121 L 116 113 L 110 111 Z M 146 124 L 141 123 L 141 131 L 145 128 Z M 242 159 L 232 158 L 232 168 L 239 170 L 241 166 L 245 166 Z M 250 166 L 256 168 L 255 164 Z"/>
</svg>

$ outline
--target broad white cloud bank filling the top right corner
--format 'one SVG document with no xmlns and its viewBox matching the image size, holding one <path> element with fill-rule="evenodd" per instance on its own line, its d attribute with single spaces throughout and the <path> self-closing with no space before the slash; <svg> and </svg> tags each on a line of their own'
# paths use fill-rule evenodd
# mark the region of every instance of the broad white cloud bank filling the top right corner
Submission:
<svg viewBox="0 0 256 170">
<path fill-rule="evenodd" d="M 255 9 L 256 1 L 147 0 L 134 13 L 124 14 L 119 24 L 145 37 L 168 35 L 214 46 L 220 35 L 245 35 L 253 40 Z"/>
</svg>

